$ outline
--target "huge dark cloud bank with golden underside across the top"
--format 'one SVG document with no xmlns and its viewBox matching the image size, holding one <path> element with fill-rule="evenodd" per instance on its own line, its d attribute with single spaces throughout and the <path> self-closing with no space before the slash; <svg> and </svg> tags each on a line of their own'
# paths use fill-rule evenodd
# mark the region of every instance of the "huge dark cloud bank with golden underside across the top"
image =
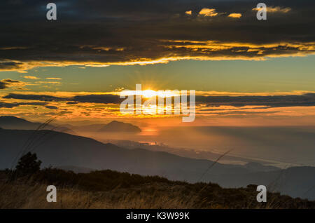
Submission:
<svg viewBox="0 0 315 223">
<path fill-rule="evenodd" d="M 57 21 L 45 20 L 43 1 L 14 2 L 1 2 L 1 70 L 314 53 L 313 0 L 264 1 L 291 8 L 268 13 L 267 21 L 255 18 L 258 2 L 250 0 L 55 1 Z M 202 17 L 202 8 L 218 15 Z"/>
</svg>

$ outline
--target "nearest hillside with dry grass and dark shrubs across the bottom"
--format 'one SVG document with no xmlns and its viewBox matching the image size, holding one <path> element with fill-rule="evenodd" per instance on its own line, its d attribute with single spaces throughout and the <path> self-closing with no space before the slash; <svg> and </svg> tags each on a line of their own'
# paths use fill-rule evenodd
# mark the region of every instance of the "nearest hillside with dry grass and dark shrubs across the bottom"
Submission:
<svg viewBox="0 0 315 223">
<path fill-rule="evenodd" d="M 0 208 L 315 208 L 314 201 L 276 193 L 258 203 L 254 185 L 223 189 L 111 170 L 76 174 L 45 169 L 14 180 L 9 175 L 0 172 Z M 57 203 L 45 201 L 50 184 L 57 187 Z"/>
</svg>

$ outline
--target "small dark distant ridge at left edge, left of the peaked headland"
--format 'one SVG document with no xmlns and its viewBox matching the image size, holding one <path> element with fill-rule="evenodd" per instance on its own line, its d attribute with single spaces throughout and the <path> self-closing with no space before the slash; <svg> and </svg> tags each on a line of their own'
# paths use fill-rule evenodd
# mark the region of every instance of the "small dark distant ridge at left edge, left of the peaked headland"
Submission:
<svg viewBox="0 0 315 223">
<path fill-rule="evenodd" d="M 27 121 L 15 116 L 0 116 L 0 127 L 4 129 L 36 130 L 41 124 L 42 123 Z M 53 126 L 48 124 L 43 129 L 76 135 L 76 133 L 67 126 Z"/>
</svg>

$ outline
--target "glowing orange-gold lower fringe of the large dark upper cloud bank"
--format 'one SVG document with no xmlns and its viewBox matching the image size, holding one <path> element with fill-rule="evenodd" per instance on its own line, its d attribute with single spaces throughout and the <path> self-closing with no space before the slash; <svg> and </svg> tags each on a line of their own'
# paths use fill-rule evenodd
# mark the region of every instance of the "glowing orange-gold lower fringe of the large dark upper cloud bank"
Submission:
<svg viewBox="0 0 315 223">
<path fill-rule="evenodd" d="M 232 15 L 235 16 L 235 15 Z M 237 18 L 237 16 L 235 16 Z M 162 53 L 151 57 L 135 59 L 121 58 L 117 61 L 0 61 L 0 72 L 27 72 L 34 67 L 108 67 L 110 65 L 155 65 L 178 60 L 265 60 L 266 58 L 302 57 L 315 54 L 315 42 L 275 42 L 275 43 L 241 43 L 236 41 L 193 41 L 193 40 L 158 40 L 156 45 Z M 239 50 L 239 48 L 244 48 Z M 170 54 L 169 50 L 173 53 Z M 221 53 L 224 51 L 224 53 Z M 117 52 L 117 51 L 116 51 Z M 129 53 L 126 51 L 126 53 Z M 164 55 L 164 56 L 163 56 Z M 160 56 L 160 57 L 158 57 Z M 102 59 L 102 58 L 101 58 Z M 48 79 L 55 79 L 53 77 Z"/>
</svg>

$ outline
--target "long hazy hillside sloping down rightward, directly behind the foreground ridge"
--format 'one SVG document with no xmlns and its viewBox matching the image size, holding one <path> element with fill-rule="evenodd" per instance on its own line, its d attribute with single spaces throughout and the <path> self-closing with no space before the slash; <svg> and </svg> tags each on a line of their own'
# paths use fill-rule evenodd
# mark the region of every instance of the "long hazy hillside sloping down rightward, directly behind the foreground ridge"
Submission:
<svg viewBox="0 0 315 223">
<path fill-rule="evenodd" d="M 162 151 L 124 149 L 51 130 L 40 130 L 35 134 L 34 130 L 0 130 L 0 169 L 14 166 L 13 161 L 23 148 L 36 152 L 43 167 L 83 166 L 85 169 L 159 175 L 169 180 L 217 182 L 224 187 L 262 184 L 293 197 L 315 199 L 315 168 L 312 167 L 255 172 L 264 168 L 263 165 L 214 164 L 213 161 L 184 158 Z"/>
</svg>

